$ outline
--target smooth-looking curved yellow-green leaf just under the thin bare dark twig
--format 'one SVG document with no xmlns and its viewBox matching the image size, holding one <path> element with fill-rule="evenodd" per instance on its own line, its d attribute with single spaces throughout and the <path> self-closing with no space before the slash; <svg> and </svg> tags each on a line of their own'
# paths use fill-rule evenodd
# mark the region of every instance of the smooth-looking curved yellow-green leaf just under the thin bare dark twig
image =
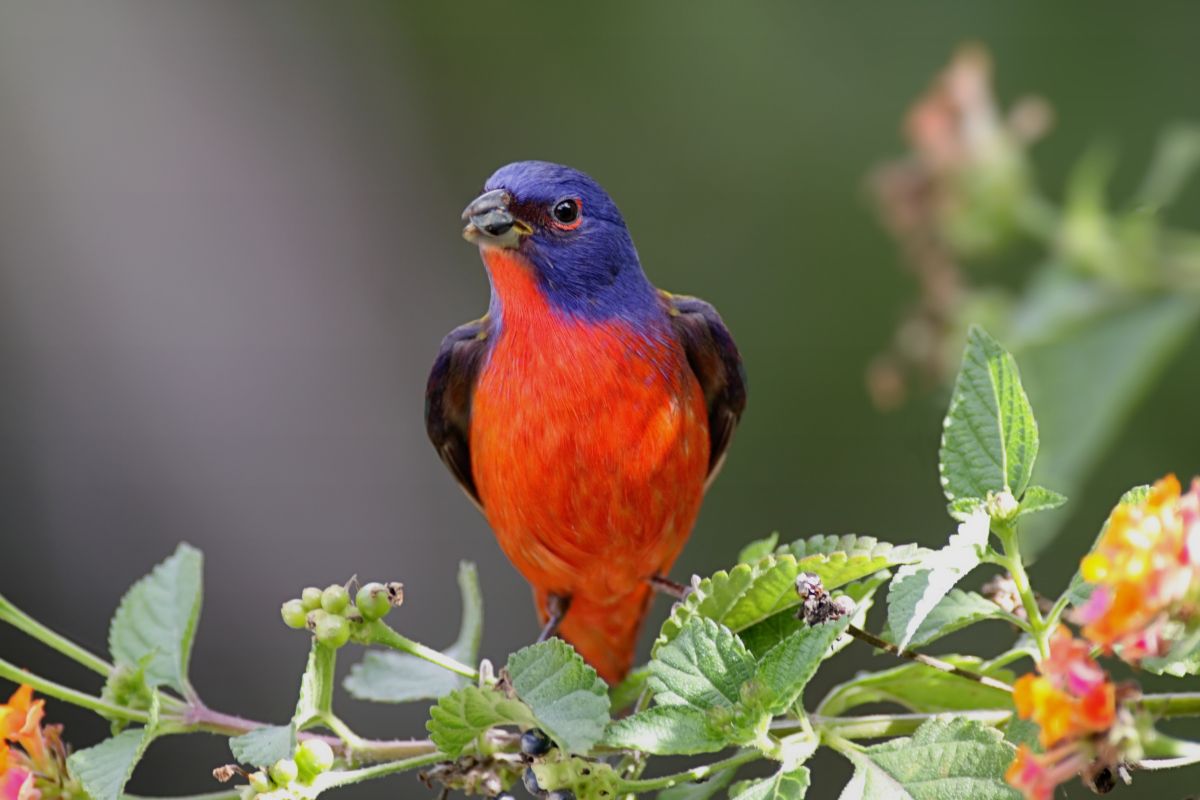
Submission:
<svg viewBox="0 0 1200 800">
<path fill-rule="evenodd" d="M 1015 675 L 1007 669 L 983 669 L 974 656 L 941 656 L 944 661 L 1012 684 Z M 834 686 L 817 706 L 817 714 L 839 716 L 866 703 L 895 703 L 918 714 L 962 711 L 970 709 L 1012 708 L 1013 694 L 984 686 L 925 664 L 906 663 L 883 672 L 860 673 Z"/>
</svg>

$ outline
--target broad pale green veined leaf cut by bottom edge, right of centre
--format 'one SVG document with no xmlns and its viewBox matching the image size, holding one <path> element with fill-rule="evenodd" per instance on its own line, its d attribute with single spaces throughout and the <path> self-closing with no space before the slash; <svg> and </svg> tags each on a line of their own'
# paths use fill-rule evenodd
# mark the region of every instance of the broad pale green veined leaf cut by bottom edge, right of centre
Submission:
<svg viewBox="0 0 1200 800">
<path fill-rule="evenodd" d="M 840 752 L 854 777 L 840 800 L 1020 800 L 1004 782 L 1014 748 L 973 720 L 931 720 L 911 739 Z"/>
</svg>

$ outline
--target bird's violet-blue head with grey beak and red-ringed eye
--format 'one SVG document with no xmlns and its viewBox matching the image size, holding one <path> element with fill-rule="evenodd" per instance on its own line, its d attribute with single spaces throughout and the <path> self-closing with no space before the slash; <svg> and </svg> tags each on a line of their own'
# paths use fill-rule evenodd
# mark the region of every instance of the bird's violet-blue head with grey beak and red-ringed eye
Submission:
<svg viewBox="0 0 1200 800">
<path fill-rule="evenodd" d="M 641 321 L 656 308 L 620 211 L 577 169 L 545 161 L 500 167 L 462 218 L 463 237 L 479 245 L 490 269 L 490 249 L 518 255 L 542 296 L 560 312 Z M 503 313 L 496 277 L 493 313 Z"/>
</svg>

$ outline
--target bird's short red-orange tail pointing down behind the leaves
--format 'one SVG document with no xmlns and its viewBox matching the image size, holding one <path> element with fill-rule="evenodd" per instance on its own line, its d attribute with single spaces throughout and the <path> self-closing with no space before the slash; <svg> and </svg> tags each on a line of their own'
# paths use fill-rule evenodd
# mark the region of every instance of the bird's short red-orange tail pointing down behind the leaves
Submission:
<svg viewBox="0 0 1200 800">
<path fill-rule="evenodd" d="M 654 590 L 641 583 L 620 596 L 575 595 L 558 636 L 570 642 L 600 676 L 616 686 L 634 664 L 637 634 L 650 607 Z M 545 622 L 546 595 L 535 593 L 539 614 Z"/>
</svg>

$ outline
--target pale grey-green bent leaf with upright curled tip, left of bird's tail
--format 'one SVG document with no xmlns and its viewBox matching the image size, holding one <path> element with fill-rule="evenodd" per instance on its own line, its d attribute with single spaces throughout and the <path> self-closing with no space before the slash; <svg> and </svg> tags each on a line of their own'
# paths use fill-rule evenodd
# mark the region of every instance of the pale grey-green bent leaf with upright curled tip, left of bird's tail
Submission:
<svg viewBox="0 0 1200 800">
<path fill-rule="evenodd" d="M 479 658 L 479 638 L 484 631 L 484 599 L 479 590 L 479 573 L 470 561 L 458 565 L 458 591 L 462 595 L 458 638 L 444 652 L 462 663 L 473 664 Z M 425 658 L 407 652 L 372 650 L 360 663 L 350 667 L 350 674 L 342 685 L 360 700 L 410 703 L 437 699 L 466 682 L 461 675 Z"/>
</svg>

